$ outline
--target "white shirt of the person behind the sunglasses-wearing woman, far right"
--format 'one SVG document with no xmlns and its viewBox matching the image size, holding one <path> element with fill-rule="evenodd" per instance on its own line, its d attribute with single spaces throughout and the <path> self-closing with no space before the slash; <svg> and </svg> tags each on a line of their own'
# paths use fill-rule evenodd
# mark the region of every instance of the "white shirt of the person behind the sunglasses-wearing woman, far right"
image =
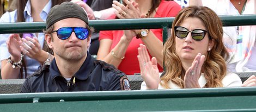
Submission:
<svg viewBox="0 0 256 112">
<path fill-rule="evenodd" d="M 214 10 L 217 15 L 240 15 L 239 11 L 229 0 L 202 0 L 205 7 Z M 245 10 L 242 15 L 256 14 L 256 1 L 247 0 Z M 223 41 L 230 53 L 229 70 L 233 72 L 251 72 L 256 71 L 251 53 L 256 51 L 254 41 L 256 40 L 256 26 L 240 26 L 239 32 L 237 27 L 223 27 Z M 238 33 L 238 34 L 237 34 Z M 237 39 L 242 37 L 242 42 L 237 43 Z M 251 58 L 252 57 L 252 58 Z"/>
</svg>

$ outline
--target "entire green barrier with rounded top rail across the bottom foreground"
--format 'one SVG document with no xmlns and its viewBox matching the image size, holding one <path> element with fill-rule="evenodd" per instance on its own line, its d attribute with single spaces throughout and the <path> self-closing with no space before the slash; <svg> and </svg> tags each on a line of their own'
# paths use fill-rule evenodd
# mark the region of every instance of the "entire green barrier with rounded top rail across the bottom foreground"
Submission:
<svg viewBox="0 0 256 112">
<path fill-rule="evenodd" d="M 256 88 L 0 95 L 0 111 L 256 111 Z"/>
</svg>

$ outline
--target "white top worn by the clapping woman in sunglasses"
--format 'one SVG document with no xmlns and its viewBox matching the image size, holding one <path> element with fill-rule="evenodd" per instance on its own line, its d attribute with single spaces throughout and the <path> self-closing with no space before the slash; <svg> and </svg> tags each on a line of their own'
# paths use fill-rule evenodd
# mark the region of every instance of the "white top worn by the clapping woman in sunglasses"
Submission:
<svg viewBox="0 0 256 112">
<path fill-rule="evenodd" d="M 204 75 L 201 75 L 199 80 L 198 80 L 198 83 L 200 85 L 201 88 L 203 88 L 206 84 L 206 80 L 205 80 L 205 77 Z M 223 87 L 240 87 L 242 86 L 242 81 L 240 79 L 239 76 L 237 76 L 237 74 L 235 73 L 232 73 L 232 72 L 229 72 L 228 74 L 226 74 L 226 76 L 222 79 L 222 84 L 223 84 Z M 168 86 L 171 88 L 171 89 L 180 89 L 180 86 L 174 84 L 172 81 L 169 81 L 168 82 Z M 147 89 L 147 85 L 145 82 L 142 82 L 141 84 L 141 90 L 146 90 Z M 161 86 L 159 84 L 159 88 L 158 89 L 166 89 L 164 88 L 163 86 Z"/>
</svg>

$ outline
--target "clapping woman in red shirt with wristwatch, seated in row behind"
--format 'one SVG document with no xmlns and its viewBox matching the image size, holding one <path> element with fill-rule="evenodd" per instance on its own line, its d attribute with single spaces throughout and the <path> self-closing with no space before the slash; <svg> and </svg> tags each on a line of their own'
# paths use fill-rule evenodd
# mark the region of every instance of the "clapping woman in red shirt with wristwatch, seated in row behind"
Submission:
<svg viewBox="0 0 256 112">
<path fill-rule="evenodd" d="M 175 17 L 181 9 L 174 1 L 150 0 L 128 1 L 120 4 L 113 1 L 116 10 L 113 18 L 145 18 L 145 17 Z M 162 29 L 137 29 L 137 30 L 110 30 L 100 32 L 100 47 L 97 59 L 112 64 L 128 75 L 139 73 L 139 64 L 136 59 L 139 43 L 144 43 L 150 55 L 156 57 L 160 71 L 162 71 L 163 48 Z"/>
</svg>

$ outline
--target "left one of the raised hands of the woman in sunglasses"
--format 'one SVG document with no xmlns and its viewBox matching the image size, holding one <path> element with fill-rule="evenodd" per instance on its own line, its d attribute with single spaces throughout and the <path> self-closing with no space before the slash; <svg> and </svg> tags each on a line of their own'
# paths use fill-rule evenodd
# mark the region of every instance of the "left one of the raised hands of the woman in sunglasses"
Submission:
<svg viewBox="0 0 256 112">
<path fill-rule="evenodd" d="M 156 58 L 150 61 L 149 54 L 145 45 L 140 44 L 138 48 L 139 68 L 141 77 L 144 79 L 148 89 L 158 89 L 160 83 L 159 70 L 157 68 Z"/>
</svg>

